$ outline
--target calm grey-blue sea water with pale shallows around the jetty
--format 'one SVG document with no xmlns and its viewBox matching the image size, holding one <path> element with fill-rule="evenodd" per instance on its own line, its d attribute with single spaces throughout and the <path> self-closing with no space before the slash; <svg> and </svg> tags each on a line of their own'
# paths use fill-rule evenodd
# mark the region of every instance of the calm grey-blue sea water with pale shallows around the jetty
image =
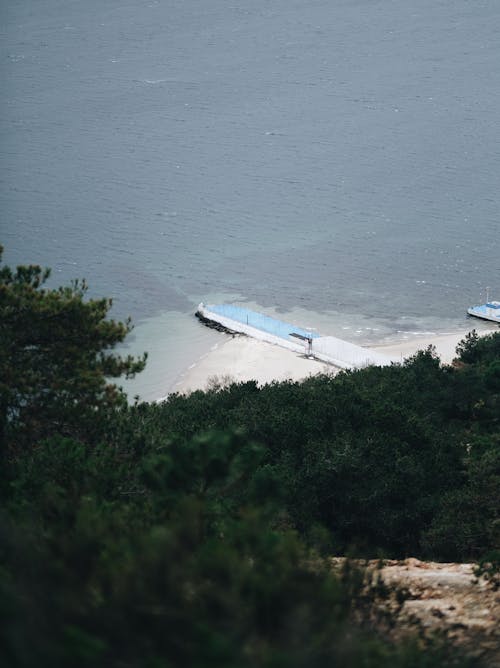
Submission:
<svg viewBox="0 0 500 668">
<path fill-rule="evenodd" d="M 164 396 L 229 301 L 358 343 L 500 293 L 497 0 L 4 0 L 9 264 L 86 277 Z"/>
</svg>

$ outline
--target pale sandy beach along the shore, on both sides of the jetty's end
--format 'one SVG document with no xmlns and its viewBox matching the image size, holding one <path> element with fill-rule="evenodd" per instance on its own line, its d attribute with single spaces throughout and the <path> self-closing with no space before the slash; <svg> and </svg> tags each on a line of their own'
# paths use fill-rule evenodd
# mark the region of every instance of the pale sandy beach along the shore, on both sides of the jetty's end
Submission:
<svg viewBox="0 0 500 668">
<path fill-rule="evenodd" d="M 482 330 L 481 335 L 498 329 Z M 456 356 L 458 343 L 468 331 L 435 336 L 419 336 L 404 341 L 372 346 L 395 362 L 401 362 L 418 350 L 435 346 L 444 364 Z M 318 373 L 335 374 L 334 366 L 308 359 L 285 348 L 258 341 L 247 336 L 221 334 L 221 343 L 193 364 L 175 385 L 174 391 L 189 393 L 206 390 L 215 384 L 256 380 L 260 385 L 282 380 L 302 380 Z"/>
</svg>

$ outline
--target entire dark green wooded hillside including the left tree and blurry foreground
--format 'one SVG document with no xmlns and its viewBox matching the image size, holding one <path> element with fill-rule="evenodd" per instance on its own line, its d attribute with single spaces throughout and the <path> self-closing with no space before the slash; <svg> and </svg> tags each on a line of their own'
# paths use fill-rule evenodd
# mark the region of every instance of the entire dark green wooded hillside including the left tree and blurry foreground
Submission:
<svg viewBox="0 0 500 668">
<path fill-rule="evenodd" d="M 472 665 L 360 624 L 328 557 L 499 549 L 499 333 L 130 406 L 130 322 L 47 276 L 0 269 L 2 665 Z"/>
</svg>

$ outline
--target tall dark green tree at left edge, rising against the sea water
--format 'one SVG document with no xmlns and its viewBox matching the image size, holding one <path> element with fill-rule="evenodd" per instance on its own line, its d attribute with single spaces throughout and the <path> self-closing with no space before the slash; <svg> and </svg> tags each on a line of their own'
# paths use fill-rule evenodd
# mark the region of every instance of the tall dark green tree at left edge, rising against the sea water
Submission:
<svg viewBox="0 0 500 668">
<path fill-rule="evenodd" d="M 100 413 L 126 403 L 109 379 L 146 362 L 110 352 L 131 330 L 107 318 L 110 299 L 85 300 L 85 281 L 46 288 L 49 275 L 0 266 L 0 442 L 11 449 L 54 433 L 88 440 Z"/>
</svg>

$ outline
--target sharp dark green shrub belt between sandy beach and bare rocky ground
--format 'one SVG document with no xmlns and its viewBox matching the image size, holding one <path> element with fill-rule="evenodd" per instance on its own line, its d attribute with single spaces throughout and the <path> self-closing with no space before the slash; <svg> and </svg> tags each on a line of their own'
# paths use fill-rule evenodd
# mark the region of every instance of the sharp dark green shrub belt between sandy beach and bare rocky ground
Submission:
<svg viewBox="0 0 500 668">
<path fill-rule="evenodd" d="M 427 350 L 402 366 L 173 396 L 130 409 L 117 434 L 147 450 L 236 427 L 263 446 L 277 524 L 339 552 L 475 558 L 498 541 L 499 508 L 500 395 L 481 345 L 481 364 L 443 367 Z"/>
</svg>

